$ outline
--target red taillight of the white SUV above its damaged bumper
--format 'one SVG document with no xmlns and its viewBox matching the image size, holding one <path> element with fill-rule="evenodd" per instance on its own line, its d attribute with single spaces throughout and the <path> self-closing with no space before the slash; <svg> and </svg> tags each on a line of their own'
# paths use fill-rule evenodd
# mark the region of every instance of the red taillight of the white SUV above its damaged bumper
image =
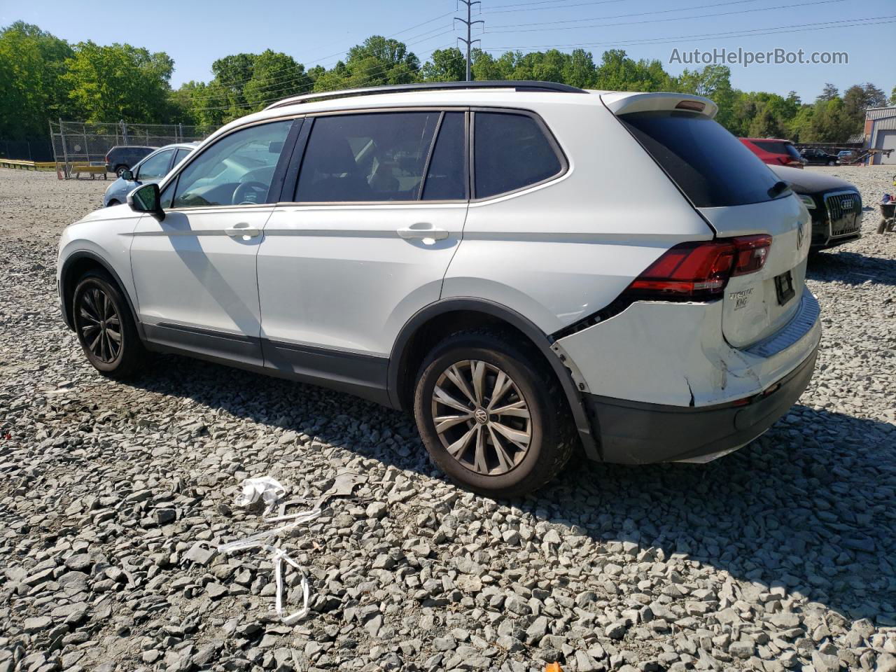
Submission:
<svg viewBox="0 0 896 672">
<path fill-rule="evenodd" d="M 732 276 L 759 271 L 770 248 L 771 236 L 765 235 L 681 243 L 651 263 L 625 293 L 633 298 L 717 297 Z"/>
</svg>

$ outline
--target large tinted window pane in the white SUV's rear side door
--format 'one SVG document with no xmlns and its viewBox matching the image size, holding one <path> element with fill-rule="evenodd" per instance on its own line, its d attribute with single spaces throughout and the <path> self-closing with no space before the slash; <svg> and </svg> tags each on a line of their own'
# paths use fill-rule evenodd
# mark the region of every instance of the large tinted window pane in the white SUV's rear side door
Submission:
<svg viewBox="0 0 896 672">
<path fill-rule="evenodd" d="M 440 112 L 318 116 L 297 202 L 417 201 Z"/>
</svg>

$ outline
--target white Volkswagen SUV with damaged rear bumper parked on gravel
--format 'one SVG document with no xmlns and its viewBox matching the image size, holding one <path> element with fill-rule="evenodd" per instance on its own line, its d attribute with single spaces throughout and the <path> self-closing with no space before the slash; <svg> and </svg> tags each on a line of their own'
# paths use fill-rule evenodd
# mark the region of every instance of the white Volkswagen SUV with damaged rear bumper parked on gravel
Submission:
<svg viewBox="0 0 896 672">
<path fill-rule="evenodd" d="M 812 376 L 808 214 L 708 99 L 543 82 L 285 99 L 65 229 L 65 321 L 413 409 L 520 495 L 593 460 L 708 461 Z"/>
</svg>

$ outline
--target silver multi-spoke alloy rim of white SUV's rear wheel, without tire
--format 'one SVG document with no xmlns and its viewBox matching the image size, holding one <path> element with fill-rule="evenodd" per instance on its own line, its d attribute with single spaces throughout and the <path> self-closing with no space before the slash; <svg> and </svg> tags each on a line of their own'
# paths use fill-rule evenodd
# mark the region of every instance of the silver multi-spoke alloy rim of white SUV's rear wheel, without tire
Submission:
<svg viewBox="0 0 896 672">
<path fill-rule="evenodd" d="M 445 450 L 470 471 L 505 474 L 529 452 L 529 404 L 495 365 L 468 359 L 446 368 L 435 382 L 432 413 Z"/>
</svg>

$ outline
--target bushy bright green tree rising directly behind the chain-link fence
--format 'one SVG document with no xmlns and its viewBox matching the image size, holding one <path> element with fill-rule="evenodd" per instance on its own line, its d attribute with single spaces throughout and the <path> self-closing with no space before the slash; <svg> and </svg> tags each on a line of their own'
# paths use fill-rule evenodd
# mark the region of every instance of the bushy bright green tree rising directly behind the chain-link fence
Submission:
<svg viewBox="0 0 896 672">
<path fill-rule="evenodd" d="M 128 44 L 101 47 L 88 40 L 65 61 L 62 80 L 86 121 L 165 121 L 174 61 Z"/>
</svg>

